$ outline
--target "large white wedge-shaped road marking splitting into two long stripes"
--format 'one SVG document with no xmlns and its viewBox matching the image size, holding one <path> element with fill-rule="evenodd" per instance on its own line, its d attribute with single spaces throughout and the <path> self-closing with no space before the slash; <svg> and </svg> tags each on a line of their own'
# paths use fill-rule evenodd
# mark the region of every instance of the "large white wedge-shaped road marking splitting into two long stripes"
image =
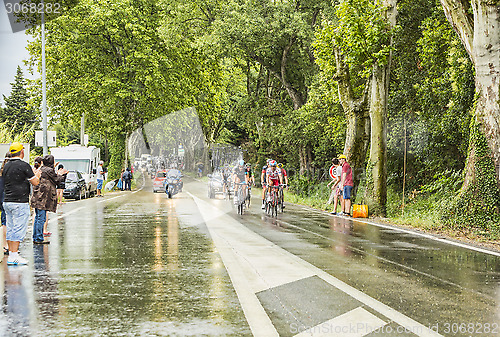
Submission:
<svg viewBox="0 0 500 337">
<path fill-rule="evenodd" d="M 188 194 L 196 202 L 210 235 L 240 299 L 254 336 L 275 336 L 264 308 L 256 297 L 263 288 L 271 288 L 317 275 L 337 289 L 357 299 L 397 324 L 417 331 L 418 336 L 441 336 L 415 320 L 349 286 L 316 266 L 282 249 L 251 231 L 210 203 Z M 223 220 L 223 221 L 221 221 Z"/>
</svg>

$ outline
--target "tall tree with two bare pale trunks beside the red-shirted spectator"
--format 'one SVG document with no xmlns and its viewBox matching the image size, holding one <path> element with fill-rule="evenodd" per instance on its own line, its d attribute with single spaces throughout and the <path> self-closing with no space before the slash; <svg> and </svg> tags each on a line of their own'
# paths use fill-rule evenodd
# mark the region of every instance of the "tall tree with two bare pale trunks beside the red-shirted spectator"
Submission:
<svg viewBox="0 0 500 337">
<path fill-rule="evenodd" d="M 370 146 L 366 196 L 374 213 L 387 198 L 387 102 L 395 1 L 343 0 L 315 42 L 321 69 L 333 74 L 347 119 L 344 152 L 360 181 Z M 353 75 L 353 73 L 355 75 Z"/>
</svg>

